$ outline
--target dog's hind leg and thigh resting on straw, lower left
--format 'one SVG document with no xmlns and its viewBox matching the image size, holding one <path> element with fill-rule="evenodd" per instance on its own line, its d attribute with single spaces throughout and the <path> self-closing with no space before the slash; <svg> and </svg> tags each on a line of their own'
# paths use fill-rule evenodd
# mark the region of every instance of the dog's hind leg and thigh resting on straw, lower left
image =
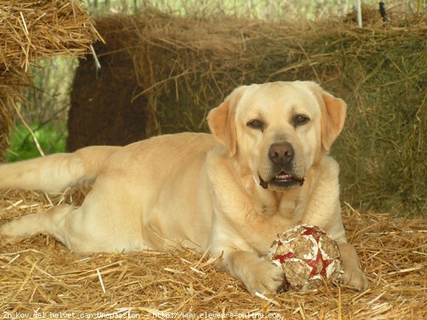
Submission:
<svg viewBox="0 0 427 320">
<path fill-rule="evenodd" d="M 142 239 L 141 223 L 132 219 L 137 215 L 130 214 L 138 209 L 128 208 L 121 213 L 122 202 L 108 200 L 115 191 L 100 194 L 94 189 L 79 208 L 62 204 L 0 225 L 0 242 L 17 242 L 43 233 L 53 235 L 75 252 L 147 249 Z"/>
</svg>

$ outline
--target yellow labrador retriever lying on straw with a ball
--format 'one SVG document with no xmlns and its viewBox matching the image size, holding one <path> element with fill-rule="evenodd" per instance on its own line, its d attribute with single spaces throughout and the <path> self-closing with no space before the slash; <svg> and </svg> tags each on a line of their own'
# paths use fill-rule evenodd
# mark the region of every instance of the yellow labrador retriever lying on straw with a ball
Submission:
<svg viewBox="0 0 427 320">
<path fill-rule="evenodd" d="M 292 225 L 325 229 L 339 243 L 342 281 L 369 282 L 344 234 L 338 164 L 328 151 L 346 105 L 315 82 L 238 87 L 209 113 L 212 134 L 154 137 L 124 147 L 0 166 L 0 188 L 58 192 L 95 181 L 80 208 L 61 205 L 5 223 L 9 241 L 50 233 L 75 252 L 167 250 L 176 241 L 223 255 L 252 294 L 277 292 L 265 255 Z"/>
</svg>

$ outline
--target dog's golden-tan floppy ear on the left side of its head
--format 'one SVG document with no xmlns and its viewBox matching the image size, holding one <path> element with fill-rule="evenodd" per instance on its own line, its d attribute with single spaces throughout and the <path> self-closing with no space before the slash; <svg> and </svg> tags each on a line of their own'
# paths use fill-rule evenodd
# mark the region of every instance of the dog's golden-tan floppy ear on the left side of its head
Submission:
<svg viewBox="0 0 427 320">
<path fill-rule="evenodd" d="M 221 105 L 212 109 L 208 114 L 209 129 L 216 141 L 230 151 L 233 156 L 237 151 L 236 142 L 236 107 L 243 96 L 245 86 L 231 92 Z"/>
</svg>

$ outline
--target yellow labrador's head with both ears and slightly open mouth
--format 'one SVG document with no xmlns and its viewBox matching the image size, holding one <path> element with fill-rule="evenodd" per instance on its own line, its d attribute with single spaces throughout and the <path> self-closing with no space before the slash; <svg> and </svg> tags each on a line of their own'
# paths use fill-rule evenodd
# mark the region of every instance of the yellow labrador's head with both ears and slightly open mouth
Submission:
<svg viewBox="0 0 427 320">
<path fill-rule="evenodd" d="M 285 191 L 330 150 L 344 125 L 343 100 L 315 82 L 238 87 L 209 113 L 209 127 L 263 188 Z"/>
</svg>

